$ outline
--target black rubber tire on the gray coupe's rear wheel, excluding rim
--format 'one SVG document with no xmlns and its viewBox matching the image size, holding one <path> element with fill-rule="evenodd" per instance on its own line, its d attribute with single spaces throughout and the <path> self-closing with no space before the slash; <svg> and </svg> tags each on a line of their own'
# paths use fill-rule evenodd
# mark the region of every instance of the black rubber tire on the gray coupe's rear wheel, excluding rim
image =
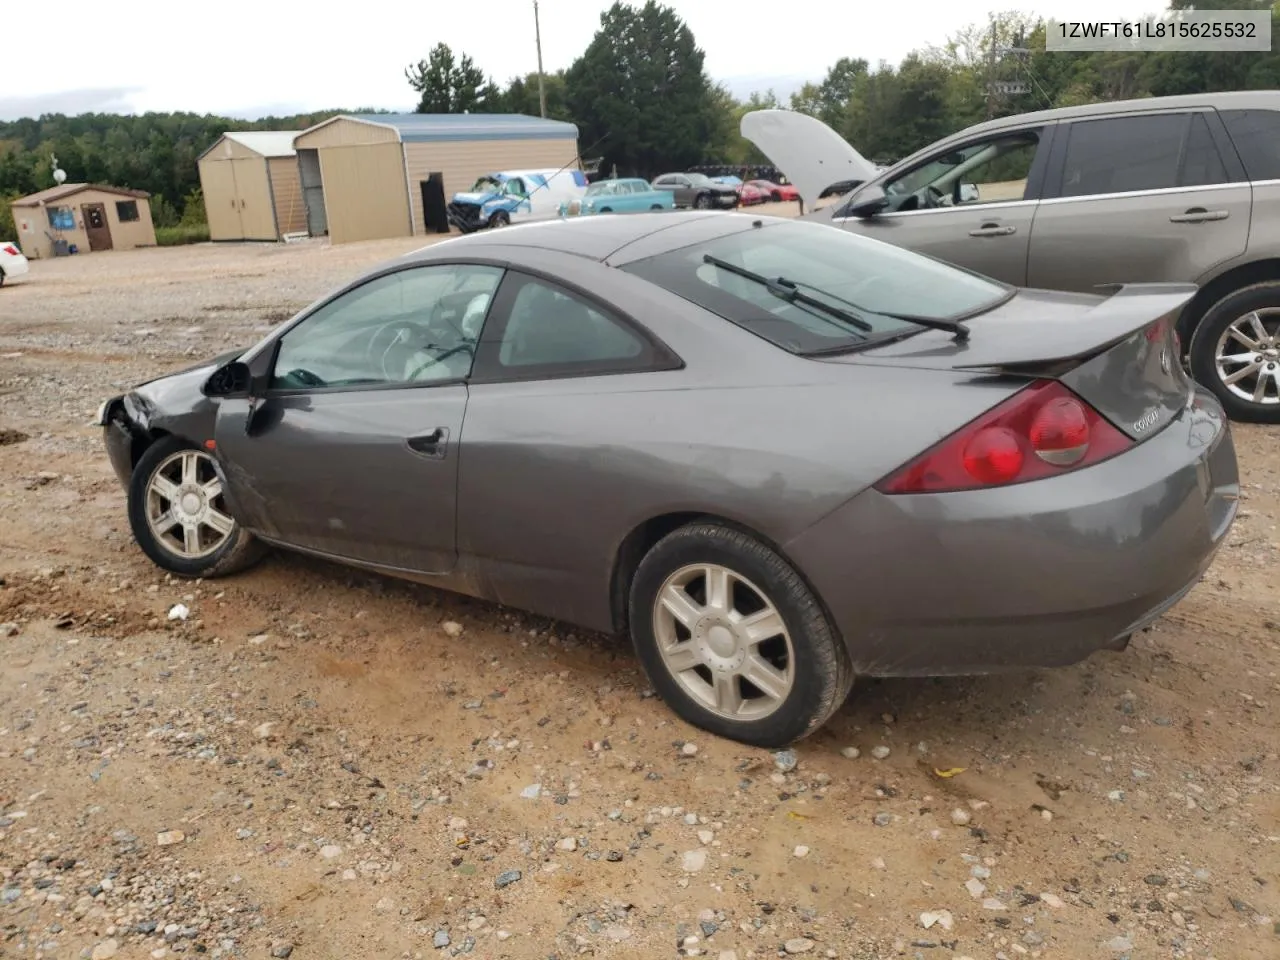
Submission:
<svg viewBox="0 0 1280 960">
<path fill-rule="evenodd" d="M 654 622 L 658 594 L 676 571 L 698 563 L 727 567 L 750 581 L 773 604 L 790 634 L 794 682 L 767 716 L 735 721 L 708 709 L 663 660 Z M 654 690 L 687 723 L 728 740 L 763 748 L 795 742 L 822 727 L 854 684 L 849 653 L 801 576 L 755 538 L 721 524 L 690 524 L 659 540 L 631 580 L 628 614 L 636 655 Z"/>
</svg>

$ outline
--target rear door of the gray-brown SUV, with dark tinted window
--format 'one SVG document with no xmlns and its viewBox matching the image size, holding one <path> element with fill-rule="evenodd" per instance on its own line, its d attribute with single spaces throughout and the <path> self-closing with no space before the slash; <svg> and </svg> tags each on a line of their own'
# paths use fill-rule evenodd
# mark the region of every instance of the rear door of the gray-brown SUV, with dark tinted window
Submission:
<svg viewBox="0 0 1280 960">
<path fill-rule="evenodd" d="M 1198 282 L 1244 252 L 1252 197 L 1212 109 L 1064 123 L 1032 232 L 1028 284 Z"/>
</svg>

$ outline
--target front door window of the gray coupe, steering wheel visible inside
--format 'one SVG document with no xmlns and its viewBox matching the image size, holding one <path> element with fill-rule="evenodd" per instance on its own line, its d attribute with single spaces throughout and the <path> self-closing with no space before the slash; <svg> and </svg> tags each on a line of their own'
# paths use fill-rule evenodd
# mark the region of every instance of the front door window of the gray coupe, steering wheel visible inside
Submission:
<svg viewBox="0 0 1280 960">
<path fill-rule="evenodd" d="M 280 340 L 276 390 L 458 380 L 471 372 L 503 270 L 431 265 L 384 274 L 320 307 Z"/>
</svg>

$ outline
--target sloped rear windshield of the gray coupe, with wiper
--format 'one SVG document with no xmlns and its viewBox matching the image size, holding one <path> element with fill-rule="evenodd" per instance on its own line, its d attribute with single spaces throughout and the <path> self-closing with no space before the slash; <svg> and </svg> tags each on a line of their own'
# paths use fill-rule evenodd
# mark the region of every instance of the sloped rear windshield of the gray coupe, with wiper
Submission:
<svg viewBox="0 0 1280 960">
<path fill-rule="evenodd" d="M 721 260 L 804 293 L 864 321 L 788 301 Z M 809 223 L 768 223 L 728 237 L 623 264 L 641 276 L 792 353 L 856 347 L 922 326 L 893 315 L 959 320 L 1005 302 L 1012 288 L 890 243 Z"/>
</svg>

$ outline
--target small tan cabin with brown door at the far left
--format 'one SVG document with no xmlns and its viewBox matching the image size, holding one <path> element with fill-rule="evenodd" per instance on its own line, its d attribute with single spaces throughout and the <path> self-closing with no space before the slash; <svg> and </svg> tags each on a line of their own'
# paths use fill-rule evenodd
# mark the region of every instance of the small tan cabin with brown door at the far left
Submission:
<svg viewBox="0 0 1280 960">
<path fill-rule="evenodd" d="M 150 197 L 146 191 L 97 183 L 64 183 L 19 197 L 10 205 L 18 246 L 28 260 L 154 247 Z"/>
</svg>

